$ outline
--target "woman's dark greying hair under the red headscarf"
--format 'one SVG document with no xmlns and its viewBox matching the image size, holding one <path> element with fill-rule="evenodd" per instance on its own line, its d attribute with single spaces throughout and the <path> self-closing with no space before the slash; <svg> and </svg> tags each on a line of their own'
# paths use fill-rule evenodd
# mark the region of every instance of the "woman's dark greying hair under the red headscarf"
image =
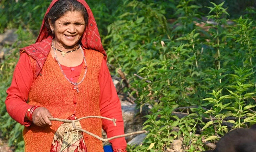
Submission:
<svg viewBox="0 0 256 152">
<path fill-rule="evenodd" d="M 55 21 L 63 16 L 68 11 L 79 11 L 84 16 L 85 27 L 88 25 L 88 13 L 86 8 L 77 0 L 59 0 L 50 9 L 49 13 L 45 16 L 45 26 L 48 32 L 51 32 L 48 19 L 54 25 Z"/>
</svg>

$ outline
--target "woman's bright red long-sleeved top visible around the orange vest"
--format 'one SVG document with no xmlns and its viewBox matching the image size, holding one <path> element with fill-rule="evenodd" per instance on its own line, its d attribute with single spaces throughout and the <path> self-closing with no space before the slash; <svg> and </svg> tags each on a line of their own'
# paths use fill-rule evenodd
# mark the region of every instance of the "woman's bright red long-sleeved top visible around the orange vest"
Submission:
<svg viewBox="0 0 256 152">
<path fill-rule="evenodd" d="M 79 78 L 83 64 L 76 67 L 62 66 L 66 76 L 73 82 Z M 112 82 L 106 62 L 103 60 L 99 74 L 100 85 L 100 113 L 101 116 L 108 118 L 120 118 L 121 111 L 114 111 L 116 107 L 120 107 L 120 99 L 116 93 L 116 89 Z M 33 81 L 33 71 L 31 67 L 30 58 L 26 53 L 21 54 L 21 57 L 16 65 L 13 73 L 13 80 L 11 86 L 8 88 L 6 105 L 9 115 L 21 123 L 29 126 L 30 121 L 24 121 L 25 113 L 31 106 L 26 103 L 28 100 L 28 93 Z M 74 109 L 76 106 L 76 99 L 73 98 Z M 75 111 L 74 111 L 75 113 Z M 109 120 L 102 120 L 103 129 L 108 137 L 117 134 L 123 134 L 123 122 L 119 122 L 116 127 L 112 127 L 113 122 Z M 113 149 L 125 149 L 126 141 L 124 138 L 113 139 L 110 141 Z"/>
</svg>

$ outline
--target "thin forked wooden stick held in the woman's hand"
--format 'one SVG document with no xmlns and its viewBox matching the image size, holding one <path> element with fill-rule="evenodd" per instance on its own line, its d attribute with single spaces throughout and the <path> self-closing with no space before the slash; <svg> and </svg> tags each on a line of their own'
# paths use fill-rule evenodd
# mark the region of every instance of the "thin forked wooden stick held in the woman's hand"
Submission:
<svg viewBox="0 0 256 152">
<path fill-rule="evenodd" d="M 122 134 L 122 135 L 117 135 L 117 136 L 113 136 L 113 137 L 110 137 L 110 138 L 101 138 L 100 136 L 94 134 L 94 133 L 91 133 L 91 132 L 88 132 L 82 128 L 78 128 L 75 126 L 75 122 L 76 121 L 79 121 L 79 120 L 82 120 L 82 119 L 86 119 L 86 118 L 101 118 L 101 119 L 106 119 L 106 120 L 110 120 L 110 121 L 113 121 L 114 125 L 116 126 L 116 119 L 110 119 L 110 118 L 107 118 L 107 117 L 102 117 L 102 116 L 87 116 L 87 117 L 82 117 L 82 118 L 79 118 L 77 120 L 67 120 L 67 119 L 59 119 L 59 118 L 49 118 L 49 120 L 53 120 L 53 121 L 61 121 L 61 122 L 72 122 L 72 126 L 74 129 L 76 130 L 79 130 L 81 132 L 84 132 L 84 133 L 87 133 L 103 142 L 107 142 L 109 140 L 112 140 L 112 139 L 115 139 L 115 138 L 120 138 L 120 137 L 125 137 L 125 136 L 130 136 L 130 135 L 134 135 L 134 134 L 140 134 L 140 133 L 147 133 L 147 131 L 145 130 L 142 130 L 142 131 L 137 131 L 137 132 L 133 132 L 133 133 L 126 133 L 126 134 Z"/>
</svg>

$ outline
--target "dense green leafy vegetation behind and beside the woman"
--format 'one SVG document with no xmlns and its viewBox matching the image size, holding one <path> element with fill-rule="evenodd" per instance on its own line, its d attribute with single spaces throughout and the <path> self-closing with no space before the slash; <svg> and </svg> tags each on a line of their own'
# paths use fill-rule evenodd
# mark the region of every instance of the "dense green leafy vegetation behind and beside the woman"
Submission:
<svg viewBox="0 0 256 152">
<path fill-rule="evenodd" d="M 18 49 L 35 42 L 50 2 L 0 0 L 0 33 L 16 28 L 21 42 L 0 65 L 0 133 L 15 151 L 23 151 L 23 126 L 6 112 L 6 89 Z M 184 151 L 207 150 L 204 142 L 256 122 L 255 0 L 87 3 L 112 74 L 122 70 L 131 85 L 124 93 L 137 108 L 150 108 L 143 144 L 128 151 L 165 151 L 175 139 L 183 139 Z"/>
</svg>

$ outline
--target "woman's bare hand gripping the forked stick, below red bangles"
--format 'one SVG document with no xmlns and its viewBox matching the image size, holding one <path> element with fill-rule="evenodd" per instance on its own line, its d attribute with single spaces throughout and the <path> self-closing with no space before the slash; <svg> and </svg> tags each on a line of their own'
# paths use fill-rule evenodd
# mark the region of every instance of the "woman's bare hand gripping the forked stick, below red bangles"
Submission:
<svg viewBox="0 0 256 152">
<path fill-rule="evenodd" d="M 36 108 L 32 114 L 32 121 L 35 125 L 43 127 L 45 125 L 52 125 L 48 118 L 53 118 L 48 109 L 44 107 Z"/>
</svg>

